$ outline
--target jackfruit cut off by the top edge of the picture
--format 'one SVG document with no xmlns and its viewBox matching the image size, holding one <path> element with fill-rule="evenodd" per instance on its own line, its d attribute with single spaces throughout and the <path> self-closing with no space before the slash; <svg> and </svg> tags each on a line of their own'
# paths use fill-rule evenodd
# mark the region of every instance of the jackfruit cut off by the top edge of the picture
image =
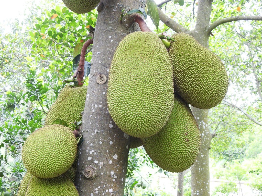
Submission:
<svg viewBox="0 0 262 196">
<path fill-rule="evenodd" d="M 85 14 L 92 11 L 100 0 L 63 0 L 65 6 L 77 14 Z"/>
</svg>

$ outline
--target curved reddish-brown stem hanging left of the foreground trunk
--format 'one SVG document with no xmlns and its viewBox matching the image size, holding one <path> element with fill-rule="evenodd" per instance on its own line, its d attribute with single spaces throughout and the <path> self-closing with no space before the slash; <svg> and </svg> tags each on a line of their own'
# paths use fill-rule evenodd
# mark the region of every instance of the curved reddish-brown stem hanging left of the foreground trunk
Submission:
<svg viewBox="0 0 262 196">
<path fill-rule="evenodd" d="M 77 82 L 79 86 L 83 85 L 82 81 L 84 80 L 85 52 L 90 44 L 93 44 L 93 39 L 89 39 L 88 41 L 86 41 L 81 49 L 77 75 Z"/>
</svg>

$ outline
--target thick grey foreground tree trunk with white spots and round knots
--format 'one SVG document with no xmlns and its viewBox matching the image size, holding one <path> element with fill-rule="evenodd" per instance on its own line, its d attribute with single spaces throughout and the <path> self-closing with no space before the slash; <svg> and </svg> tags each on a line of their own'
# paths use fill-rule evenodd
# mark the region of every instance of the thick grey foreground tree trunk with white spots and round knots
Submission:
<svg viewBox="0 0 262 196">
<path fill-rule="evenodd" d="M 128 20 L 119 24 L 121 10 L 142 6 L 145 6 L 144 0 L 102 0 L 98 7 L 83 114 L 84 141 L 79 147 L 75 181 L 80 196 L 124 194 L 130 137 L 116 126 L 108 113 L 107 82 L 102 74 L 108 78 L 110 63 L 118 43 L 134 31 L 133 26 L 127 25 Z"/>
</svg>

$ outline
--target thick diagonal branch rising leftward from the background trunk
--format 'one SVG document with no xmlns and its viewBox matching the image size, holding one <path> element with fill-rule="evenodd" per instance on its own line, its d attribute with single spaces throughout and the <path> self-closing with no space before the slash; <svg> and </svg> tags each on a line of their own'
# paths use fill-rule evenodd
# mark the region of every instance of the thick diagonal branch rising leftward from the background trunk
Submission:
<svg viewBox="0 0 262 196">
<path fill-rule="evenodd" d="M 177 22 L 173 21 L 171 18 L 169 18 L 166 14 L 163 13 L 163 11 L 158 8 L 159 18 L 160 20 L 165 23 L 168 27 L 170 27 L 172 30 L 183 33 L 190 34 L 190 31 L 183 27 L 182 25 L 178 24 Z"/>
</svg>

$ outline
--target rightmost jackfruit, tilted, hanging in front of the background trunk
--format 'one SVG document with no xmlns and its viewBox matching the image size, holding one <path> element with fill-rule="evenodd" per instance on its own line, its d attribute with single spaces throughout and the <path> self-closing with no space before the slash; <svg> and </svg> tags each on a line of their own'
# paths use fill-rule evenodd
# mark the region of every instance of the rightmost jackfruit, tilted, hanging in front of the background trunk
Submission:
<svg viewBox="0 0 262 196">
<path fill-rule="evenodd" d="M 175 91 L 190 105 L 209 109 L 218 105 L 228 89 L 223 62 L 186 33 L 172 36 L 169 53 L 174 68 Z"/>
</svg>

